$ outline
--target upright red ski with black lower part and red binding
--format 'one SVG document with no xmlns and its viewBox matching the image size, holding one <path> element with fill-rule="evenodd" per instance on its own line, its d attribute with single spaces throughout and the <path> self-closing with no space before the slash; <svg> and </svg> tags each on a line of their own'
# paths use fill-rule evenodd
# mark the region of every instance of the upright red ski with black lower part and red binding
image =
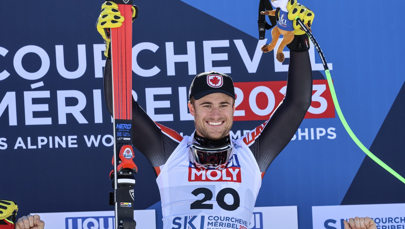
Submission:
<svg viewBox="0 0 405 229">
<path fill-rule="evenodd" d="M 114 118 L 114 193 L 115 229 L 135 229 L 134 164 L 132 149 L 132 0 L 111 0 L 124 16 L 119 28 L 111 28 L 111 62 L 113 73 Z"/>
</svg>

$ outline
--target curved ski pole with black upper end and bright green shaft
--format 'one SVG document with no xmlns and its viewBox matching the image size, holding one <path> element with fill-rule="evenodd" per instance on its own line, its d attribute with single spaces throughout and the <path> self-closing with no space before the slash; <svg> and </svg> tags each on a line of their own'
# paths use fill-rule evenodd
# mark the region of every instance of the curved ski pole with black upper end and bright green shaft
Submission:
<svg viewBox="0 0 405 229">
<path fill-rule="evenodd" d="M 387 170 L 389 173 L 391 173 L 392 175 L 394 175 L 396 178 L 398 178 L 400 181 L 402 181 L 405 184 L 405 179 L 399 175 L 396 171 L 394 171 L 393 169 L 391 169 L 386 163 L 384 163 L 383 161 L 381 161 L 379 158 L 377 158 L 377 156 L 375 156 L 373 153 L 370 152 L 369 149 L 367 149 L 361 142 L 360 140 L 356 137 L 356 135 L 354 135 L 352 129 L 350 129 L 349 125 L 347 124 L 345 117 L 343 116 L 342 110 L 340 109 L 339 103 L 337 101 L 337 97 L 336 97 L 336 92 L 335 92 L 335 87 L 333 86 L 333 82 L 332 82 L 332 77 L 330 76 L 330 71 L 328 68 L 328 63 L 326 62 L 325 56 L 321 50 L 321 48 L 318 45 L 318 42 L 316 42 L 315 37 L 313 37 L 313 35 L 311 34 L 311 32 L 309 31 L 309 29 L 307 28 L 307 26 L 305 26 L 305 24 L 303 23 L 303 21 L 301 21 L 301 19 L 299 19 L 299 17 L 295 18 L 296 21 L 298 22 L 298 24 L 300 24 L 300 26 L 303 28 L 303 30 L 308 34 L 309 39 L 311 39 L 313 45 L 316 48 L 316 51 L 318 51 L 319 56 L 321 57 L 322 60 L 322 64 L 324 66 L 325 69 L 325 74 L 326 74 L 326 79 L 328 80 L 328 85 L 329 85 L 329 89 L 330 89 L 330 94 L 332 94 L 332 99 L 333 99 L 333 103 L 335 104 L 335 108 L 337 111 L 337 114 L 340 118 L 340 121 L 342 122 L 343 126 L 345 127 L 347 133 L 350 135 L 350 137 L 352 137 L 353 141 L 357 144 L 357 146 L 363 150 L 363 152 L 365 154 L 367 154 L 367 156 L 369 156 L 371 159 L 373 159 L 373 161 L 375 161 L 378 165 L 380 165 L 381 167 L 383 167 L 385 170 Z"/>
</svg>

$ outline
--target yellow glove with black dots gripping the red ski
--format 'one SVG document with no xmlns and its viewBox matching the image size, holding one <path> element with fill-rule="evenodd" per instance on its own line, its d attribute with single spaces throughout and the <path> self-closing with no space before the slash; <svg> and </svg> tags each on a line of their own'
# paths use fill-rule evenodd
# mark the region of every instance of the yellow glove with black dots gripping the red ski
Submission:
<svg viewBox="0 0 405 229">
<path fill-rule="evenodd" d="M 132 6 L 132 21 L 138 17 L 138 6 Z M 117 4 L 115 2 L 104 2 L 101 6 L 101 13 L 97 19 L 97 31 L 101 34 L 105 43 L 104 56 L 111 58 L 109 51 L 110 48 L 110 28 L 118 28 L 122 26 L 124 17 L 118 10 Z"/>
</svg>

